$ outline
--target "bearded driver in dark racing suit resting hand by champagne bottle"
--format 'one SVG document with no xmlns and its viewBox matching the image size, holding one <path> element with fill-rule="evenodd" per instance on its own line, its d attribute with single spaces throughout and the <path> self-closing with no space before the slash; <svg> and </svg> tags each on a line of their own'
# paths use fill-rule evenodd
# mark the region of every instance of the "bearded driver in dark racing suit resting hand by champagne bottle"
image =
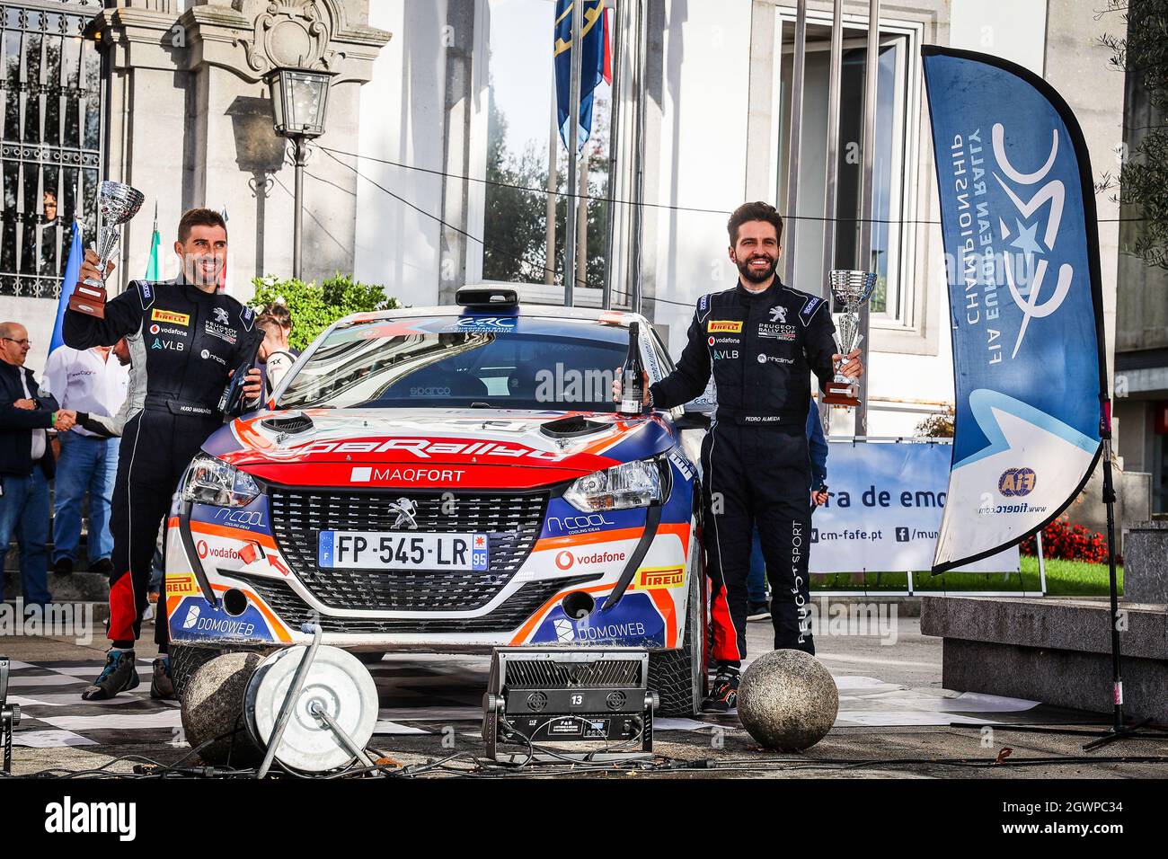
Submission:
<svg viewBox="0 0 1168 859">
<path fill-rule="evenodd" d="M 668 409 L 695 399 L 710 375 L 717 413 L 702 442 L 707 569 L 714 584 L 711 625 L 717 678 L 705 709 L 737 704 L 746 656 L 750 550 L 757 524 L 771 579 L 774 647 L 815 652 L 808 619 L 811 374 L 822 390 L 835 374 L 828 302 L 793 290 L 776 275 L 783 219 L 773 206 L 745 203 L 728 224 L 738 284 L 702 296 L 676 369 L 655 382 L 648 402 Z M 858 349 L 842 372 L 858 377 Z M 619 388 L 619 383 L 617 386 Z"/>
</svg>

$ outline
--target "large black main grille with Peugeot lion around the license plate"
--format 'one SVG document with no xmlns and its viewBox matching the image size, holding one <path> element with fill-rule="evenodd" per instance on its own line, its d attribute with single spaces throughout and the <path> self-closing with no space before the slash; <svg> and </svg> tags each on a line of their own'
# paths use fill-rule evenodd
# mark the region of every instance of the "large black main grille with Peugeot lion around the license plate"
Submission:
<svg viewBox="0 0 1168 859">
<path fill-rule="evenodd" d="M 320 569 L 320 531 L 396 531 L 390 505 L 409 498 L 417 507 L 418 532 L 486 533 L 491 541 L 486 570 Z M 325 605 L 391 611 L 473 611 L 486 605 L 512 580 L 543 528 L 548 493 L 269 493 L 272 529 L 297 577 Z M 452 506 L 450 506 L 452 505 Z"/>
</svg>

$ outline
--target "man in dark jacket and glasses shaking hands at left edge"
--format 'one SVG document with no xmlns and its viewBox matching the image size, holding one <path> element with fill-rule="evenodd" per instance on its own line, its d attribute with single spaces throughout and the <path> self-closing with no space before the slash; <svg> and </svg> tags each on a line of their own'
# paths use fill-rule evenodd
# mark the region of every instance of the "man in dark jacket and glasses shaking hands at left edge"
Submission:
<svg viewBox="0 0 1168 859">
<path fill-rule="evenodd" d="M 57 407 L 25 367 L 28 331 L 0 323 L 0 568 L 15 534 L 26 605 L 51 598 L 46 543 L 49 539 L 49 479 L 54 472 L 48 430 L 67 432 L 77 414 Z"/>
</svg>

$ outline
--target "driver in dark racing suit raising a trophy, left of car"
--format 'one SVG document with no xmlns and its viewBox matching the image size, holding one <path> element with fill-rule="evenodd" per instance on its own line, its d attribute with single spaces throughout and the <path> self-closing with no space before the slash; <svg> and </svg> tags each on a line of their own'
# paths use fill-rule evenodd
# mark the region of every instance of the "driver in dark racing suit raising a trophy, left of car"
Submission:
<svg viewBox="0 0 1168 859">
<path fill-rule="evenodd" d="M 106 303 L 104 319 L 74 310 L 64 317 L 69 346 L 112 346 L 125 337 L 131 356 L 110 515 L 113 570 L 107 635 L 112 646 L 100 676 L 82 693 L 85 700 L 112 698 L 138 685 L 134 642 L 141 629 L 159 526 L 188 463 L 223 425 L 218 404 L 228 380 L 237 367 L 255 360 L 263 339 L 253 312 L 216 292 L 227 262 L 227 226 L 218 213 L 190 209 L 183 214 L 174 251 L 182 266 L 175 279 L 131 282 Z M 85 251 L 81 278 L 97 278 L 97 254 Z M 249 369 L 244 400 L 255 401 L 259 390 L 259 370 Z M 173 698 L 165 588 L 158 602 L 154 640 L 159 657 L 151 695 Z"/>
</svg>

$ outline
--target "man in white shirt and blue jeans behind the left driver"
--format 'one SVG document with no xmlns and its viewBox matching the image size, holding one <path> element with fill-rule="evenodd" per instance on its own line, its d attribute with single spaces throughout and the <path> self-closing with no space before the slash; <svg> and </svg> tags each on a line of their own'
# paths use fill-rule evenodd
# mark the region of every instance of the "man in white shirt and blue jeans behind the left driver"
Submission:
<svg viewBox="0 0 1168 859">
<path fill-rule="evenodd" d="M 72 411 L 97 417 L 117 415 L 126 399 L 130 353 L 118 347 L 74 349 L 58 346 L 44 365 L 44 382 Z M 56 500 L 53 518 L 53 569 L 69 574 L 81 541 L 82 499 L 89 493 L 89 569 L 109 575 L 110 504 L 118 473 L 118 438 L 93 432 L 81 423 L 61 434 Z"/>
</svg>

